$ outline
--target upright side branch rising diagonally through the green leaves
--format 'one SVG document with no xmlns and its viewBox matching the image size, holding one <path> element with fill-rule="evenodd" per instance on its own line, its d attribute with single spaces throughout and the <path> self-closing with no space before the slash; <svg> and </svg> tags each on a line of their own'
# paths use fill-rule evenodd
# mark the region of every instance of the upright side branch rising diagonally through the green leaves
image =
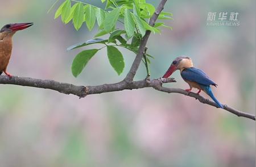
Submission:
<svg viewBox="0 0 256 167">
<path fill-rule="evenodd" d="M 150 21 L 148 23 L 150 26 L 154 27 L 156 19 L 158 19 L 160 12 L 163 10 L 164 5 L 166 4 L 166 1 L 167 0 L 162 0 L 159 3 L 158 8 L 154 12 L 154 14 L 152 15 L 152 17 L 150 18 Z M 139 50 L 135 57 L 135 60 L 133 61 L 133 64 L 131 65 L 131 69 L 130 69 L 129 73 L 127 73 L 127 76 L 125 77 L 126 82 L 133 81 L 133 78 L 139 68 L 139 64 L 141 64 L 141 59 L 143 57 L 143 53 L 145 51 L 147 40 L 150 37 L 150 34 L 151 34 L 151 31 L 147 30 L 146 34 L 143 36 L 143 38 L 141 40 L 141 45 L 139 45 Z"/>
</svg>

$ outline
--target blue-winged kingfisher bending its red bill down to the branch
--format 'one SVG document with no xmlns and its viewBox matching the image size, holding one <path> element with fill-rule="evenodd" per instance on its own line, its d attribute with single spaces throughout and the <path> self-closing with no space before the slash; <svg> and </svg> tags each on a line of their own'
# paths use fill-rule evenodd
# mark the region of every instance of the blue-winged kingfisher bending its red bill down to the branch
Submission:
<svg viewBox="0 0 256 167">
<path fill-rule="evenodd" d="M 199 94 L 201 90 L 203 90 L 210 96 L 210 98 L 213 99 L 218 107 L 223 108 L 221 103 L 214 97 L 212 89 L 210 88 L 210 85 L 217 87 L 217 84 L 213 82 L 202 70 L 193 67 L 193 62 L 189 57 L 179 56 L 172 61 L 170 68 L 168 68 L 163 78 L 168 78 L 178 69 L 180 70 L 181 77 L 190 87 L 189 89 L 186 89 L 186 91 L 191 91 L 192 87 L 195 87 L 199 89 L 197 92 L 197 94 Z"/>
</svg>

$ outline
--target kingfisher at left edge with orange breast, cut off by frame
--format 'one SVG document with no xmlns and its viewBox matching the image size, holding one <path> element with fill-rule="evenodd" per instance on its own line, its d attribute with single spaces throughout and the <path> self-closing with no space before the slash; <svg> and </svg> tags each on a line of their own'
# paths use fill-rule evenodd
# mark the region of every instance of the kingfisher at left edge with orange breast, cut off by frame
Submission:
<svg viewBox="0 0 256 167">
<path fill-rule="evenodd" d="M 7 73 L 6 68 L 11 57 L 11 50 L 13 49 L 13 35 L 15 32 L 32 25 L 33 23 L 6 24 L 0 30 L 0 75 L 4 72 L 6 76 L 11 78 L 11 74 Z"/>
</svg>

